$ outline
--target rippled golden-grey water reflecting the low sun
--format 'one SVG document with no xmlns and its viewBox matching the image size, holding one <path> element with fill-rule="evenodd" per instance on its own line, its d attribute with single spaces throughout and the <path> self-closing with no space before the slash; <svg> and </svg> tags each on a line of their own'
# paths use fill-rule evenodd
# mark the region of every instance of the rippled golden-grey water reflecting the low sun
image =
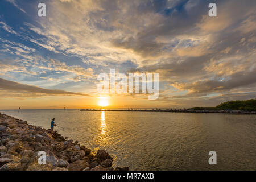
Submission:
<svg viewBox="0 0 256 182">
<path fill-rule="evenodd" d="M 256 115 L 79 110 L 1 110 L 139 170 L 256 170 Z M 217 165 L 209 165 L 209 151 Z"/>
</svg>

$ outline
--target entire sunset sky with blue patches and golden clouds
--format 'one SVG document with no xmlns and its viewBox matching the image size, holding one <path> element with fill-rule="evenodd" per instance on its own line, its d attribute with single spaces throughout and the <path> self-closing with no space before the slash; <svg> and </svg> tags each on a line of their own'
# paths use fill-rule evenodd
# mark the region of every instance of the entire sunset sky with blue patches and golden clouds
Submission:
<svg viewBox="0 0 256 182">
<path fill-rule="evenodd" d="M 46 3 L 46 17 L 38 3 Z M 217 17 L 208 5 L 217 5 Z M 215 106 L 256 97 L 256 1 L 0 1 L 0 109 Z M 97 76 L 159 73 L 159 98 Z"/>
</svg>

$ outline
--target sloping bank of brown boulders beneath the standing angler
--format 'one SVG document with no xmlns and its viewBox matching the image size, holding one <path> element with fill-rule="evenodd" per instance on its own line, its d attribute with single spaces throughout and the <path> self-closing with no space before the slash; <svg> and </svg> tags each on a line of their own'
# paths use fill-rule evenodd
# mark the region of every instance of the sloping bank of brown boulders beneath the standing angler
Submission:
<svg viewBox="0 0 256 182">
<path fill-rule="evenodd" d="M 78 141 L 49 132 L 0 113 L 0 171 L 129 171 L 114 169 L 113 158 L 104 150 L 94 155 Z M 38 163 L 39 151 L 45 152 L 46 164 Z"/>
</svg>

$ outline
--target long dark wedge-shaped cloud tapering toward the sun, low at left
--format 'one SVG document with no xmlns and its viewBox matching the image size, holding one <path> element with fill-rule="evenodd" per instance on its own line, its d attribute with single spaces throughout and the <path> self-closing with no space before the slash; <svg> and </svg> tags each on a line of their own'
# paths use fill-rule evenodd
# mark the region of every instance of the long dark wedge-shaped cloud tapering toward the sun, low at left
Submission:
<svg viewBox="0 0 256 182">
<path fill-rule="evenodd" d="M 40 94 L 40 95 L 43 94 L 43 96 L 47 96 L 47 95 L 90 96 L 89 94 L 86 94 L 86 93 L 76 93 L 76 92 L 67 92 L 64 90 L 44 89 L 38 86 L 20 84 L 18 82 L 4 80 L 2 78 L 0 78 L 0 90 L 4 92 L 5 91 L 15 92 L 21 95 L 24 93 L 27 96 L 28 95 L 34 96 L 35 94 Z"/>
</svg>

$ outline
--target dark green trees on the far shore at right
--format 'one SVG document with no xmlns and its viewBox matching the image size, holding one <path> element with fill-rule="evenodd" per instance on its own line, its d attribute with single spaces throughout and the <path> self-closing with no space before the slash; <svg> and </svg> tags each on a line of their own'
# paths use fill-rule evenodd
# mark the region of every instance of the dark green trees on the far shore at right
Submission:
<svg viewBox="0 0 256 182">
<path fill-rule="evenodd" d="M 256 99 L 223 102 L 216 107 L 193 107 L 193 110 L 246 110 L 256 111 Z"/>
</svg>

